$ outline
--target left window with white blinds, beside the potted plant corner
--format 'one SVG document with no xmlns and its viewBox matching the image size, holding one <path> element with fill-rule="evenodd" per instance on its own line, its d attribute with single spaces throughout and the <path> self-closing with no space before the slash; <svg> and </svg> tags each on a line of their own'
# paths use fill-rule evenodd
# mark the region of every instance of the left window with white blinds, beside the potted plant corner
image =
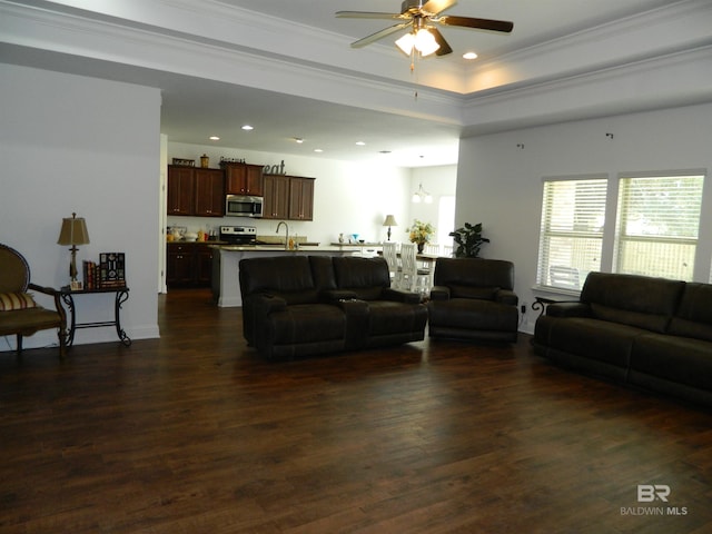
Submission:
<svg viewBox="0 0 712 534">
<path fill-rule="evenodd" d="M 607 177 L 544 180 L 540 233 L 540 286 L 577 291 L 601 269 Z"/>
</svg>

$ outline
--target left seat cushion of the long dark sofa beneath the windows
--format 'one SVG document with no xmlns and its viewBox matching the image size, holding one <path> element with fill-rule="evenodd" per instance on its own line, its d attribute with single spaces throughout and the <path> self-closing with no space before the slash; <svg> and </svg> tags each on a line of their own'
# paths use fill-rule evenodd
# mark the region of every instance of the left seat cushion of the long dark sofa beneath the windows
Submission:
<svg viewBox="0 0 712 534">
<path fill-rule="evenodd" d="M 540 324 L 541 323 L 541 324 Z M 646 330 L 633 326 L 583 317 L 541 317 L 536 339 L 560 353 L 627 367 L 633 342 Z"/>
</svg>

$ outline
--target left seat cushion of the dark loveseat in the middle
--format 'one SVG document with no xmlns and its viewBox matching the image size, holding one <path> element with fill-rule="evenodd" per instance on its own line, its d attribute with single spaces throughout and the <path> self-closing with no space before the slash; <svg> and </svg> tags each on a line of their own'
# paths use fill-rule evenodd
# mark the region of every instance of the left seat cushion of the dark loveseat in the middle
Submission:
<svg viewBox="0 0 712 534">
<path fill-rule="evenodd" d="M 344 338 L 346 317 L 336 306 L 297 304 L 269 314 L 267 336 L 273 345 Z"/>
</svg>

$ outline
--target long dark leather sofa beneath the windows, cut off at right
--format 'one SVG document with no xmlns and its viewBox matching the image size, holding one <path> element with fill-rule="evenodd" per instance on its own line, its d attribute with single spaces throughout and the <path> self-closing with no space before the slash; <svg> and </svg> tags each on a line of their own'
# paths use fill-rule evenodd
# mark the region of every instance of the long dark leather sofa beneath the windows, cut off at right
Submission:
<svg viewBox="0 0 712 534">
<path fill-rule="evenodd" d="M 562 366 L 712 406 L 711 285 L 591 273 L 532 343 Z"/>
</svg>

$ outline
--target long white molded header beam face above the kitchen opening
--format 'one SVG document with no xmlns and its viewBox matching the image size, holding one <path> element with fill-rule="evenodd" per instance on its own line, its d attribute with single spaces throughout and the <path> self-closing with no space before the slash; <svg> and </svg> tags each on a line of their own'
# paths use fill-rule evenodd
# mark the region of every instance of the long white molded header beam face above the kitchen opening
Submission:
<svg viewBox="0 0 712 534">
<path fill-rule="evenodd" d="M 448 91 L 416 87 L 407 79 L 364 76 L 345 67 L 329 70 L 318 62 L 234 42 L 129 27 L 105 16 L 87 19 L 76 12 L 2 2 L 0 31 L 6 43 L 17 47 L 459 125 L 462 99 Z"/>
</svg>

